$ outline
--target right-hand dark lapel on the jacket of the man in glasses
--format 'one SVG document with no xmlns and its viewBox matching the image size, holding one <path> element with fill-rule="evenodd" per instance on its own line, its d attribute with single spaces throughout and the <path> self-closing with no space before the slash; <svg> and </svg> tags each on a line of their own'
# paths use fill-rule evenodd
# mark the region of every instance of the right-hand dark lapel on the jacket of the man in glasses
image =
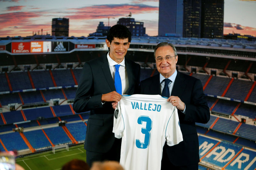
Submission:
<svg viewBox="0 0 256 170">
<path fill-rule="evenodd" d="M 172 96 L 182 96 L 182 93 L 184 92 L 184 89 L 186 87 L 186 83 L 184 82 L 184 80 L 184 76 L 178 71 L 172 88 Z"/>
</svg>

